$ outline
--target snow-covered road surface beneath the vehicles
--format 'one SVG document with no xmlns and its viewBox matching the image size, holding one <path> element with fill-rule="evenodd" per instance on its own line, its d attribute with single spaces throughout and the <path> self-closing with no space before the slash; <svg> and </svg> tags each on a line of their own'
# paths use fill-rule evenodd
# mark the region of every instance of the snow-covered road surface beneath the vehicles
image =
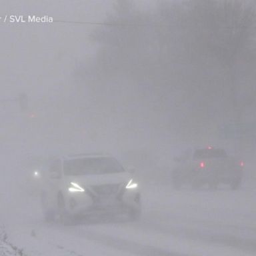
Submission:
<svg viewBox="0 0 256 256">
<path fill-rule="evenodd" d="M 255 192 L 253 186 L 174 191 L 167 185 L 144 185 L 141 221 L 61 225 L 43 221 L 37 197 L 8 197 L 5 191 L 2 229 L 7 241 L 28 256 L 256 255 Z"/>
</svg>

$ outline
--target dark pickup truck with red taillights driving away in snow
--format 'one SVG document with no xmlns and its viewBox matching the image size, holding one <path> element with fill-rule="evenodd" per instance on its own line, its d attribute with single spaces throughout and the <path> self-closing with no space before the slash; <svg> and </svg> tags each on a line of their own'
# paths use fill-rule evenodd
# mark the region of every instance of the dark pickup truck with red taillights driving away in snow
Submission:
<svg viewBox="0 0 256 256">
<path fill-rule="evenodd" d="M 194 149 L 175 158 L 175 162 L 172 172 L 175 189 L 185 184 L 193 188 L 207 184 L 211 189 L 216 189 L 220 183 L 229 184 L 231 189 L 241 185 L 244 163 L 229 157 L 224 149 Z"/>
</svg>

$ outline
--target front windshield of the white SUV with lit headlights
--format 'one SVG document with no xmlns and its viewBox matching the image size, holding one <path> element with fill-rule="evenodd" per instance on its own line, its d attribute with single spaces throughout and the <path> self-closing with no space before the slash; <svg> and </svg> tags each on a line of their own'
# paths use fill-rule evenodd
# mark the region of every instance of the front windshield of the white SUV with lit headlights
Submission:
<svg viewBox="0 0 256 256">
<path fill-rule="evenodd" d="M 101 175 L 123 171 L 123 167 L 110 157 L 71 159 L 64 162 L 65 175 Z"/>
</svg>

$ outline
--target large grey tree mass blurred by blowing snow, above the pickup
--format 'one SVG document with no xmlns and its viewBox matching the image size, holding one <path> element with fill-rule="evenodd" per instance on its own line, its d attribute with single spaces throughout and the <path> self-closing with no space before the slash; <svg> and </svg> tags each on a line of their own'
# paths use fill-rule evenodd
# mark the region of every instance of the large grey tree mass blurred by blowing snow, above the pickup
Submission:
<svg viewBox="0 0 256 256">
<path fill-rule="evenodd" d="M 93 34 L 100 49 L 90 75 L 111 86 L 117 77 L 126 81 L 119 86 L 143 95 L 170 132 L 207 137 L 224 122 L 241 123 L 248 107 L 238 97 L 254 74 L 245 69 L 256 63 L 254 15 L 253 2 L 242 0 L 166 1 L 155 13 L 118 1 Z"/>
</svg>

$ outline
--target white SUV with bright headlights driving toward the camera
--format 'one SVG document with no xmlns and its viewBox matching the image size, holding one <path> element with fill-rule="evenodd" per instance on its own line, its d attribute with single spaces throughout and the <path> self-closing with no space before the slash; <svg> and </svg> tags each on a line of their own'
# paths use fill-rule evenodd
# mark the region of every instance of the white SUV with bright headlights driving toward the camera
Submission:
<svg viewBox="0 0 256 256">
<path fill-rule="evenodd" d="M 137 219 L 141 196 L 133 175 L 109 155 L 71 155 L 51 160 L 41 201 L 45 219 L 125 213 Z"/>
</svg>

